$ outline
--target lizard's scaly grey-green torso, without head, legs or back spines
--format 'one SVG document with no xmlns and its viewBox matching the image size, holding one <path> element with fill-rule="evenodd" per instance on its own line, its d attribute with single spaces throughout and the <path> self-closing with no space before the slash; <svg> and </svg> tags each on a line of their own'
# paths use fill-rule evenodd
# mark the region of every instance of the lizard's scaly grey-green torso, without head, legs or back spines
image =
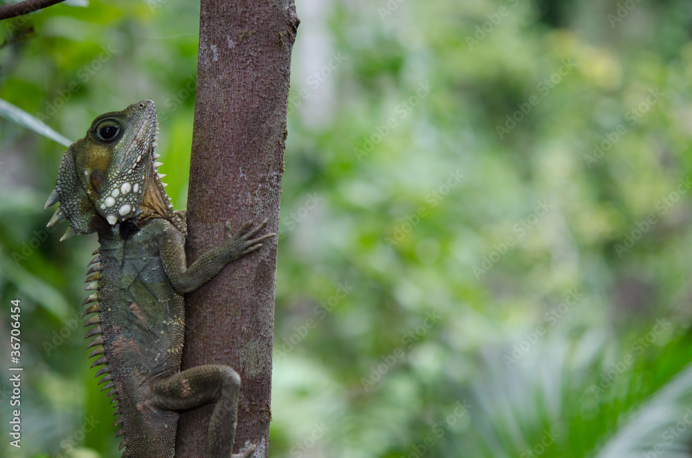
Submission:
<svg viewBox="0 0 692 458">
<path fill-rule="evenodd" d="M 152 383 L 179 372 L 185 337 L 183 295 L 170 284 L 159 253 L 161 223 L 167 221 L 148 221 L 127 239 L 105 231 L 98 237 L 98 300 L 113 304 L 98 312 L 110 382 L 128 420 L 122 424 L 127 445 L 152 457 L 172 456 L 163 451 L 175 446 L 179 417 L 152 405 Z M 152 436 L 152 429 L 161 434 Z"/>
</svg>

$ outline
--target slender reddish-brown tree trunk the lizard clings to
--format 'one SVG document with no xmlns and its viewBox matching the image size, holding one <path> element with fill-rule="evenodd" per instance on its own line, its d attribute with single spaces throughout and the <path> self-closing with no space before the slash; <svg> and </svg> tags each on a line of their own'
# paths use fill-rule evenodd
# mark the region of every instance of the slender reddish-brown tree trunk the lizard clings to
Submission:
<svg viewBox="0 0 692 458">
<path fill-rule="evenodd" d="M 188 194 L 188 265 L 234 230 L 268 218 L 277 232 L 286 140 L 293 0 L 201 0 Z M 233 367 L 242 379 L 234 452 L 268 454 L 277 239 L 185 299 L 183 365 Z M 206 457 L 213 405 L 181 415 L 176 457 Z"/>
</svg>

